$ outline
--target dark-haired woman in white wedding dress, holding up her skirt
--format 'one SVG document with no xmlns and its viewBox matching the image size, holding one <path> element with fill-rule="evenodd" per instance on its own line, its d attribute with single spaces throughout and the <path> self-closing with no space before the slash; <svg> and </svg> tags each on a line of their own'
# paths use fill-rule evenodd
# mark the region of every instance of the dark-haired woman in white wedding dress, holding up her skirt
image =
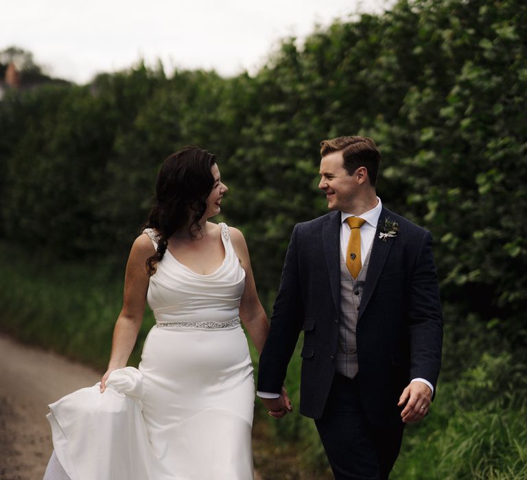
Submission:
<svg viewBox="0 0 527 480">
<path fill-rule="evenodd" d="M 198 147 L 165 159 L 130 251 L 108 370 L 49 405 L 44 480 L 253 479 L 253 366 L 240 321 L 259 352 L 268 322 L 242 233 L 207 221 L 228 190 L 215 160 Z M 156 324 L 137 370 L 126 363 L 145 302 Z"/>
</svg>

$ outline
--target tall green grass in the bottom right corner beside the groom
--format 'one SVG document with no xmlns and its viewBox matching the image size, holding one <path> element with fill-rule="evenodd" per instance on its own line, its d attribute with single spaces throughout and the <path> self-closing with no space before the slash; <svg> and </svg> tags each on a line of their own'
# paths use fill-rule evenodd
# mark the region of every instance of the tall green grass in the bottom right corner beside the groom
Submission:
<svg viewBox="0 0 527 480">
<path fill-rule="evenodd" d="M 442 428 L 408 429 L 392 479 L 525 480 L 526 414 L 525 404 L 452 411 Z"/>
</svg>

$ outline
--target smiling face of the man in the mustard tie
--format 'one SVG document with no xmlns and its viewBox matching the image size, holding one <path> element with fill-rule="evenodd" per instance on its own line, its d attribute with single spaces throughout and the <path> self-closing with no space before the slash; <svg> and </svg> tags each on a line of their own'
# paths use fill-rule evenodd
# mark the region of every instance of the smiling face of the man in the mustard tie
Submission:
<svg viewBox="0 0 527 480">
<path fill-rule="evenodd" d="M 331 152 L 320 160 L 318 188 L 326 194 L 327 208 L 351 213 L 358 183 L 355 173 L 344 168 L 342 152 Z"/>
</svg>

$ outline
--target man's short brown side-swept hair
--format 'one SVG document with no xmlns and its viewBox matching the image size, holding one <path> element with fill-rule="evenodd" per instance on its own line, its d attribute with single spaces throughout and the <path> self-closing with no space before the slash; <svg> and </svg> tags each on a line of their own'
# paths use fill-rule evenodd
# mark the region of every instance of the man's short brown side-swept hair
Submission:
<svg viewBox="0 0 527 480">
<path fill-rule="evenodd" d="M 367 136 L 338 136 L 336 139 L 320 142 L 320 156 L 341 152 L 344 168 L 352 175 L 359 167 L 366 167 L 370 184 L 375 187 L 381 154 L 377 145 Z"/>
</svg>

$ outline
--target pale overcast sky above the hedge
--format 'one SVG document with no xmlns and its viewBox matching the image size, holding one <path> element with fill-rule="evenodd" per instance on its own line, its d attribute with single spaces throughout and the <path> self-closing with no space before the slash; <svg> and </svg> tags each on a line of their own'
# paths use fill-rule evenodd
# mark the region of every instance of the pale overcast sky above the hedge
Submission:
<svg viewBox="0 0 527 480">
<path fill-rule="evenodd" d="M 0 50 L 34 53 L 53 76 L 79 83 L 161 59 L 165 71 L 255 71 L 281 38 L 382 12 L 393 0 L 3 0 Z"/>
</svg>

